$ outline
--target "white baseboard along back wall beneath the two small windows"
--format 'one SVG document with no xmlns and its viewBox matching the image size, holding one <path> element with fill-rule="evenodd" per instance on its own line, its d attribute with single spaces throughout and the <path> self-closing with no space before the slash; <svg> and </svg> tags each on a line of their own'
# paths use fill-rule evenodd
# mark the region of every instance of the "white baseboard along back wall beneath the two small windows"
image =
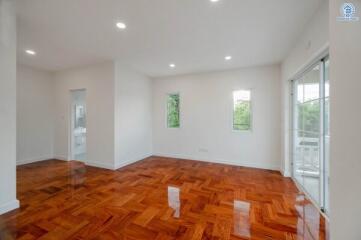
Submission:
<svg viewBox="0 0 361 240">
<path fill-rule="evenodd" d="M 258 168 L 258 169 L 265 169 L 265 170 L 274 170 L 274 171 L 279 171 L 279 172 L 281 171 L 280 166 L 275 166 L 272 164 L 261 165 L 261 164 L 236 162 L 236 161 L 228 161 L 228 160 L 224 160 L 224 159 L 212 159 L 212 158 L 207 158 L 207 160 L 205 160 L 205 159 L 194 157 L 194 156 L 187 156 L 187 155 L 181 155 L 181 154 L 167 154 L 167 153 L 156 153 L 156 154 L 154 154 L 154 156 L 178 158 L 178 159 L 185 159 L 185 160 L 194 160 L 194 161 L 208 162 L 208 163 L 220 163 L 220 164 L 234 165 L 234 166 L 239 166 L 239 167 L 250 167 L 250 168 Z"/>
</svg>

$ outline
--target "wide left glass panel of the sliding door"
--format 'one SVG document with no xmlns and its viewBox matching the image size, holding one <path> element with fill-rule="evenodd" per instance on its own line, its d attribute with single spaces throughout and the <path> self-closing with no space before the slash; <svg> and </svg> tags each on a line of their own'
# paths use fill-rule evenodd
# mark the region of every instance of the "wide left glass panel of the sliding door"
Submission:
<svg viewBox="0 0 361 240">
<path fill-rule="evenodd" d="M 293 176 L 321 204 L 321 67 L 315 65 L 294 82 Z"/>
</svg>

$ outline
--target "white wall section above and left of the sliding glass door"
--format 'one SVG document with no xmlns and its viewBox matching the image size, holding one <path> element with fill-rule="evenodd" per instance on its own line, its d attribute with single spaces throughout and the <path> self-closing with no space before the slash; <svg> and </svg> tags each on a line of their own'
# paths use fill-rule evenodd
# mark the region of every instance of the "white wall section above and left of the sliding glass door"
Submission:
<svg viewBox="0 0 361 240">
<path fill-rule="evenodd" d="M 290 80 L 329 45 L 328 0 L 324 0 L 301 32 L 294 48 L 282 63 L 282 171 L 291 176 L 290 159 Z"/>
</svg>

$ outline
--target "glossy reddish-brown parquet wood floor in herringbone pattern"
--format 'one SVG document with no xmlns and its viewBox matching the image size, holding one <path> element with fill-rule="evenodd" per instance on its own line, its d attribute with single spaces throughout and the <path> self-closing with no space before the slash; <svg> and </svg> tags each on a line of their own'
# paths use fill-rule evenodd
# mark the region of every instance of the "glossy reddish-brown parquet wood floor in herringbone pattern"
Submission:
<svg viewBox="0 0 361 240">
<path fill-rule="evenodd" d="M 279 172 L 151 157 L 117 171 L 18 167 L 21 208 L 0 239 L 326 239 L 325 219 Z"/>
</svg>

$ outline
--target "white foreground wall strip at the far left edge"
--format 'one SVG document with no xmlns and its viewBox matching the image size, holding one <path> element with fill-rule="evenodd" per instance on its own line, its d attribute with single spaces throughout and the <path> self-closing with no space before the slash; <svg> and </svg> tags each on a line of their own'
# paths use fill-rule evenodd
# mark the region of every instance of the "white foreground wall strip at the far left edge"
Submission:
<svg viewBox="0 0 361 240">
<path fill-rule="evenodd" d="M 15 3 L 12 0 L 0 0 L 0 214 L 18 206 Z"/>
</svg>

